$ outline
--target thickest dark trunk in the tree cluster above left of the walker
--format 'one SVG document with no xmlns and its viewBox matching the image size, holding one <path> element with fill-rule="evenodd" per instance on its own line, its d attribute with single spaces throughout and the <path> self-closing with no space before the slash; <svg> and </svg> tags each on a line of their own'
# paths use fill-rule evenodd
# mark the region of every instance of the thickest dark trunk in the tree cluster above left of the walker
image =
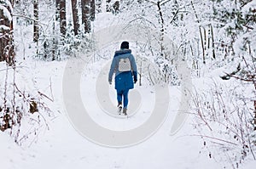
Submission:
<svg viewBox="0 0 256 169">
<path fill-rule="evenodd" d="M 90 33 L 90 0 L 81 0 L 84 33 Z"/>
</svg>

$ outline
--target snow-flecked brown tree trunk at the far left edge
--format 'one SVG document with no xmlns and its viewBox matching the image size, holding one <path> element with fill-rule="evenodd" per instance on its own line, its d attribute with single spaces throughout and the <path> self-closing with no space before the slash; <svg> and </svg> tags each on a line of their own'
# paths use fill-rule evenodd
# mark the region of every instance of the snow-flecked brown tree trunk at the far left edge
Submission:
<svg viewBox="0 0 256 169">
<path fill-rule="evenodd" d="M 0 25 L 4 26 L 4 29 L 0 31 L 0 61 L 6 61 L 9 65 L 15 65 L 15 43 L 14 43 L 14 27 L 12 11 L 14 2 L 9 1 L 12 7 L 9 7 L 3 3 L 3 8 L 7 8 L 11 18 L 8 18 L 6 14 L 3 14 L 3 9 L 0 8 Z M 0 2 L 1 4 L 1 2 Z"/>
</svg>

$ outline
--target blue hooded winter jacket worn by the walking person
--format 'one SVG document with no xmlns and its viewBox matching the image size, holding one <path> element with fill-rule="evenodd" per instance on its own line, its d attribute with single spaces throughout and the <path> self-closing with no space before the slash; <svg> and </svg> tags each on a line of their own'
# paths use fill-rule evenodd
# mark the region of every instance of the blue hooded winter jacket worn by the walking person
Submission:
<svg viewBox="0 0 256 169">
<path fill-rule="evenodd" d="M 118 70 L 119 59 L 129 58 L 131 62 L 131 71 L 120 72 Z M 130 49 L 120 49 L 115 52 L 112 64 L 108 74 L 108 82 L 112 82 L 112 76 L 115 72 L 115 89 L 125 90 L 134 87 L 133 81 L 137 81 L 137 65 Z M 132 77 L 133 76 L 133 77 Z"/>
</svg>

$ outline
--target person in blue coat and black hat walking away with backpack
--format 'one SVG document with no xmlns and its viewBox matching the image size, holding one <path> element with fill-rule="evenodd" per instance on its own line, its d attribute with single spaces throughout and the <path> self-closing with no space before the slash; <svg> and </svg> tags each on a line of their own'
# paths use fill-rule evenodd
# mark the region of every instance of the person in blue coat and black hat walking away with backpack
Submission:
<svg viewBox="0 0 256 169">
<path fill-rule="evenodd" d="M 113 55 L 112 64 L 108 74 L 108 82 L 112 84 L 112 76 L 115 72 L 114 84 L 117 92 L 119 115 L 123 109 L 123 113 L 127 115 L 128 93 L 134 87 L 133 83 L 137 82 L 137 65 L 129 42 L 122 42 L 120 50 Z M 123 107 L 122 107 L 123 101 Z"/>
</svg>

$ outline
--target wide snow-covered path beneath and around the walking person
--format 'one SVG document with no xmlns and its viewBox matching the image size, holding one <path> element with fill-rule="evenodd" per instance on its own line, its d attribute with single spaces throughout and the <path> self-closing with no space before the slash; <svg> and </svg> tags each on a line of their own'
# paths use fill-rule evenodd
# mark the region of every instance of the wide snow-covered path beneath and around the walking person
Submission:
<svg viewBox="0 0 256 169">
<path fill-rule="evenodd" d="M 102 31 L 102 34 L 106 35 L 106 32 Z M 114 42 L 119 42 L 123 40 L 122 38 L 114 40 Z M 102 45 L 101 48 L 108 46 L 108 42 L 102 42 L 101 39 L 97 41 L 97 44 Z M 111 42 L 109 43 L 111 44 Z M 100 48 L 97 49 L 100 50 Z M 113 48 L 111 50 L 114 51 Z M 113 86 L 109 87 L 108 78 L 106 78 L 106 73 L 108 73 L 106 63 L 110 60 L 102 59 L 92 62 L 90 54 L 61 62 L 45 63 L 25 60 L 24 62 L 27 63 L 24 64 L 30 65 L 30 71 L 35 72 L 38 88 L 48 87 L 50 79 L 55 100 L 53 107 L 56 112 L 61 113 L 49 122 L 49 131 L 38 136 L 37 144 L 32 144 L 29 149 L 21 149 L 12 144 L 12 148 L 9 149 L 17 153 L 15 157 L 4 157 L 6 163 L 4 166 L 10 166 L 9 168 L 14 169 L 53 167 L 69 169 L 74 165 L 78 169 L 84 167 L 92 169 L 202 168 L 201 166 L 206 162 L 205 157 L 199 156 L 198 153 L 198 149 L 201 149 L 201 145 L 198 144 L 199 138 L 188 139 L 192 131 L 189 125 L 191 121 L 187 119 L 182 127 L 179 126 L 179 132 L 173 134 L 171 130 L 177 114 L 181 113 L 179 108 L 186 108 L 184 104 L 181 106 L 181 99 L 184 94 L 182 87 L 154 88 L 147 85 L 142 87 L 136 85 L 135 88 L 139 91 L 137 94 L 142 99 L 137 98 L 136 95 L 136 99 L 132 99 L 134 96 L 131 93 L 131 106 L 135 104 L 134 108 L 139 110 L 130 118 L 114 118 L 102 110 L 96 96 L 96 85 L 99 85 L 101 91 L 108 93 L 109 101 L 112 104 L 115 103 L 116 98 Z M 104 70 L 104 65 L 106 65 L 106 70 L 101 76 L 100 73 Z M 100 82 L 96 82 L 98 76 L 100 76 Z M 43 92 L 49 93 L 49 88 Z M 141 100 L 140 104 L 136 103 L 138 100 Z M 155 104 L 158 105 L 157 110 L 155 110 Z M 83 110 L 79 110 L 80 108 Z M 87 110 L 88 114 L 85 113 L 84 109 Z M 82 114 L 78 114 L 81 112 Z M 161 112 L 166 114 L 160 114 Z M 70 115 L 73 117 L 72 121 L 70 121 Z M 161 118 L 154 119 L 155 115 L 160 115 L 158 117 Z M 159 122 L 150 125 L 146 122 L 150 118 Z M 183 121 L 184 118 L 181 120 Z M 98 125 L 97 128 L 90 126 L 93 122 Z M 133 146 L 118 149 L 101 146 L 99 143 L 95 144 L 95 140 L 86 139 L 81 131 L 74 127 L 73 123 L 79 125 L 82 132 L 87 130 L 86 132 L 90 132 L 91 136 L 97 137 L 100 141 L 102 138 L 108 137 L 108 145 L 113 144 L 114 139 L 109 137 L 107 132 L 98 132 L 97 129 L 103 127 L 108 131 L 123 132 L 121 136 L 124 137 L 121 141 L 130 145 L 129 141 L 132 135 L 129 131 L 131 132 L 144 124 L 149 125 L 143 126 L 145 132 L 143 132 L 144 135 L 139 135 L 141 138 L 138 138 L 137 144 L 133 142 Z M 154 127 L 153 132 L 149 131 L 150 133 L 148 133 L 148 127 Z M 3 142 L 8 143 L 9 139 L 3 138 Z M 9 161 L 15 161 L 15 165 Z M 207 164 L 212 168 L 218 168 L 215 161 L 207 161 Z"/>
</svg>

